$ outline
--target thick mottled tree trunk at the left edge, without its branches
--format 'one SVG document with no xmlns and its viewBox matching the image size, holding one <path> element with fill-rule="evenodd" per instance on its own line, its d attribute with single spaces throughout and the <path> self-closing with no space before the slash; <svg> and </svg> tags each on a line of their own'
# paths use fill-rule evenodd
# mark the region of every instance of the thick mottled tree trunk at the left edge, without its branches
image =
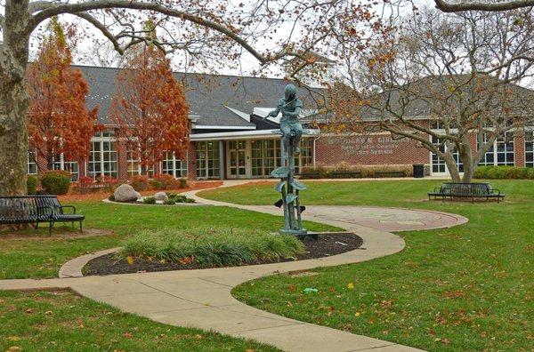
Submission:
<svg viewBox="0 0 534 352">
<path fill-rule="evenodd" d="M 4 43 L 0 44 L 0 195 L 25 195 L 28 95 L 24 75 L 28 64 L 28 1 L 5 4 Z"/>
</svg>

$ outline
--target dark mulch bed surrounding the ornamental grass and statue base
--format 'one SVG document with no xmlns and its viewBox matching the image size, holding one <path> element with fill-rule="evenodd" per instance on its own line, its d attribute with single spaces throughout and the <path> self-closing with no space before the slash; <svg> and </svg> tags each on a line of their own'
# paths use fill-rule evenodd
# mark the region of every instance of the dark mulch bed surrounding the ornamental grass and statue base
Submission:
<svg viewBox="0 0 534 352">
<path fill-rule="evenodd" d="M 306 253 L 299 255 L 296 260 L 308 260 L 314 258 L 323 258 L 360 248 L 363 240 L 360 236 L 352 233 L 328 233 L 319 234 L 319 239 L 314 241 L 312 239 L 304 239 L 303 244 L 306 246 Z M 255 264 L 269 264 L 275 262 L 293 261 L 294 259 L 284 260 L 258 260 L 253 263 L 243 265 Z M 89 275 L 112 275 L 112 274 L 126 274 L 139 272 L 153 272 L 153 271 L 168 271 L 168 270 L 190 270 L 198 268 L 216 268 L 213 265 L 196 265 L 194 262 L 190 264 L 181 263 L 161 263 L 155 260 L 134 260 L 133 264 L 128 264 L 126 260 L 118 258 L 117 253 L 103 255 L 101 257 L 90 260 L 84 267 L 84 276 Z"/>
</svg>

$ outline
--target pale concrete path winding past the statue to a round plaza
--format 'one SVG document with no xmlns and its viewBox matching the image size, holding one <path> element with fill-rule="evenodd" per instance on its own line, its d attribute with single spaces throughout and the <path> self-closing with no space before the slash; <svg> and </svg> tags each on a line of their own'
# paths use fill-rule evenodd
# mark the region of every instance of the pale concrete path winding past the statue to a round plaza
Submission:
<svg viewBox="0 0 534 352">
<path fill-rule="evenodd" d="M 231 186 L 239 182 L 226 182 Z M 197 197 L 195 192 L 188 196 Z M 279 214 L 267 206 L 227 205 L 256 212 Z M 127 206 L 127 205 L 125 205 Z M 387 230 L 449 227 L 465 218 L 441 212 L 392 208 L 310 206 L 306 220 L 322 222 L 357 233 L 365 250 L 317 260 L 255 265 L 239 268 L 168 271 L 158 273 L 87 276 L 49 280 L 0 280 L 0 290 L 71 288 L 93 300 L 155 321 L 198 327 L 232 336 L 255 339 L 287 351 L 415 351 L 416 348 L 307 324 L 249 307 L 231 296 L 232 287 L 261 276 L 310 268 L 355 263 L 400 252 L 404 241 Z M 104 251 L 106 252 L 106 251 Z M 64 276 L 77 276 L 87 260 L 83 256 L 61 268 Z"/>
</svg>

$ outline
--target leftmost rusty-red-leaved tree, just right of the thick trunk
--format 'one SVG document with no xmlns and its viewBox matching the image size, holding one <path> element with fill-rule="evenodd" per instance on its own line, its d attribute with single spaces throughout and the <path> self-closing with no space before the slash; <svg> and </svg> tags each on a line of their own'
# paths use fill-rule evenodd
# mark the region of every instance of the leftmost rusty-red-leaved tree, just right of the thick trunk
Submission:
<svg viewBox="0 0 534 352">
<path fill-rule="evenodd" d="M 91 152 L 91 137 L 97 108 L 88 111 L 89 92 L 82 72 L 72 68 L 67 35 L 53 18 L 35 63 L 28 67 L 28 140 L 37 156 L 46 160 L 83 162 Z"/>
</svg>

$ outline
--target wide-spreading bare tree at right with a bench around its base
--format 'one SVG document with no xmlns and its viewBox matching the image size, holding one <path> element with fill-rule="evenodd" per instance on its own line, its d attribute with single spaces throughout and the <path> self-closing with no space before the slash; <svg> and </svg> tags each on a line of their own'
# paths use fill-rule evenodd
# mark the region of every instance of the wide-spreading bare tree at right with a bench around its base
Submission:
<svg viewBox="0 0 534 352">
<path fill-rule="evenodd" d="M 496 139 L 534 124 L 534 92 L 518 85 L 533 73 L 533 20 L 530 10 L 416 12 L 386 40 L 353 52 L 359 99 L 337 103 L 345 104 L 338 123 L 417 140 L 453 180 L 471 181 Z"/>
</svg>

